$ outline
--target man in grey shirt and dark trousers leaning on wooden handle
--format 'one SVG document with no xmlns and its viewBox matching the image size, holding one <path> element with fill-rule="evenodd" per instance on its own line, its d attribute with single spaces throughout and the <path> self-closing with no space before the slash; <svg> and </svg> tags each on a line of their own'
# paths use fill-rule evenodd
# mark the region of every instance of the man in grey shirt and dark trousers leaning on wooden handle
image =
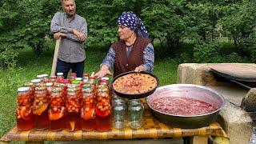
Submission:
<svg viewBox="0 0 256 144">
<path fill-rule="evenodd" d="M 62 0 L 64 13 L 54 14 L 50 23 L 50 31 L 54 33 L 54 38 L 62 37 L 58 51 L 58 61 L 56 74 L 62 72 L 64 78 L 70 69 L 82 78 L 86 53 L 82 43 L 87 38 L 86 19 L 76 14 L 74 0 Z"/>
</svg>

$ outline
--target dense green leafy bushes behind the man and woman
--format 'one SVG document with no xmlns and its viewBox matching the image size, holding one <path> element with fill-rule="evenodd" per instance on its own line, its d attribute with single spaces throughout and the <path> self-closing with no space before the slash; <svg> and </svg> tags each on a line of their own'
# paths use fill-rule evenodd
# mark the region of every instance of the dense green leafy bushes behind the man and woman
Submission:
<svg viewBox="0 0 256 144">
<path fill-rule="evenodd" d="M 116 22 L 133 10 L 159 43 L 158 55 L 179 62 L 255 62 L 256 3 L 251 0 L 76 0 L 86 18 L 87 47 L 110 46 L 117 38 Z M 0 2 L 0 66 L 17 62 L 17 49 L 40 55 L 50 34 L 50 20 L 62 11 L 56 0 L 2 0 Z M 227 45 L 226 45 L 227 44 Z M 189 46 L 189 51 L 186 47 Z M 216 57 L 216 58 L 213 58 Z"/>
</svg>

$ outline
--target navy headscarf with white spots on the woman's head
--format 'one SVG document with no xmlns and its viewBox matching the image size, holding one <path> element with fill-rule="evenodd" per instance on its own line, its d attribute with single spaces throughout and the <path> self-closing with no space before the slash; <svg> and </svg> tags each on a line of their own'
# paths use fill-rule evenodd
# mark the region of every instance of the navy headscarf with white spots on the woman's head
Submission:
<svg viewBox="0 0 256 144">
<path fill-rule="evenodd" d="M 138 18 L 132 11 L 123 12 L 118 18 L 118 25 L 126 26 L 130 30 L 134 30 L 139 36 L 143 38 L 149 38 L 149 34 L 146 31 L 141 18 Z"/>
</svg>

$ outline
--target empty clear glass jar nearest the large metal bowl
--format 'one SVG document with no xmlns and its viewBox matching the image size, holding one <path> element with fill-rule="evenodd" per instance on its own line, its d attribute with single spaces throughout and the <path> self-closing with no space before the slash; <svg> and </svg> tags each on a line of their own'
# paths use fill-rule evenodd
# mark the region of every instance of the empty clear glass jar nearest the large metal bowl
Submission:
<svg viewBox="0 0 256 144">
<path fill-rule="evenodd" d="M 130 100 L 128 106 L 128 126 L 140 129 L 144 124 L 144 106 L 139 99 Z"/>
</svg>

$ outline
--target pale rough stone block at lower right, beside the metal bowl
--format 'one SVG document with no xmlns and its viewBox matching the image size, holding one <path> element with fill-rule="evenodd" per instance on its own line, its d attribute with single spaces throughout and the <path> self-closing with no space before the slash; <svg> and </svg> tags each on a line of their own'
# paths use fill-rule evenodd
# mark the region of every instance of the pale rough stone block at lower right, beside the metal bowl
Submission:
<svg viewBox="0 0 256 144">
<path fill-rule="evenodd" d="M 240 107 L 226 101 L 225 106 L 220 111 L 222 127 L 230 138 L 230 143 L 247 144 L 250 142 L 253 121 L 250 115 Z"/>
</svg>

